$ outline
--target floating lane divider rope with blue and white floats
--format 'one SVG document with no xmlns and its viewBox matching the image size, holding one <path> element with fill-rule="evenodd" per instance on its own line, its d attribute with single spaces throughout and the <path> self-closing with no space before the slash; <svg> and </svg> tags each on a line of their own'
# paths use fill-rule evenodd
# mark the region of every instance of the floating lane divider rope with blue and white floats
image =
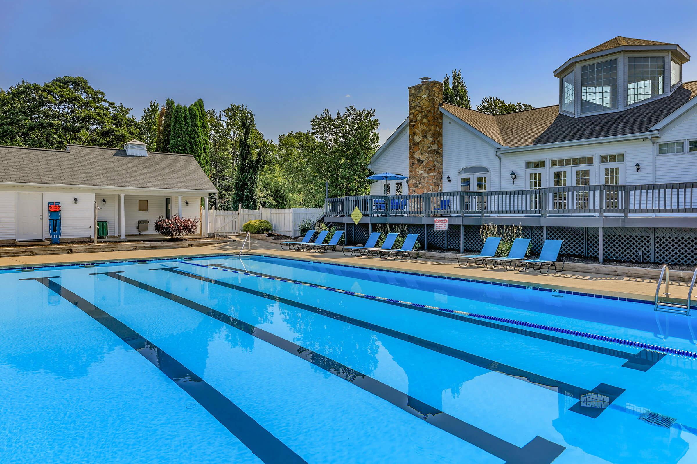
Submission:
<svg viewBox="0 0 697 464">
<path fill-rule="evenodd" d="M 546 330 L 549 332 L 562 333 L 565 335 L 572 335 L 574 337 L 581 337 L 581 338 L 586 338 L 586 339 L 598 340 L 599 342 L 615 343 L 615 344 L 620 344 L 620 345 L 624 345 L 624 346 L 632 346 L 632 347 L 638 348 L 638 349 L 655 351 L 657 353 L 665 353 L 665 354 L 685 356 L 687 358 L 697 359 L 697 353 L 694 351 L 675 349 L 675 348 L 670 348 L 668 346 L 660 346 L 660 345 L 649 344 L 649 343 L 645 343 L 645 342 L 635 342 L 634 340 L 621 339 L 618 337 L 608 337 L 607 335 L 597 335 L 594 333 L 581 332 L 580 330 L 570 330 L 567 328 L 547 326 L 545 324 L 539 324 L 539 323 L 534 323 L 534 322 L 517 321 L 516 319 L 508 319 L 505 317 L 498 317 L 498 316 L 489 316 L 487 314 L 477 314 L 475 312 L 451 310 L 451 309 L 448 309 L 447 307 L 424 305 L 421 303 L 411 303 L 410 301 L 401 301 L 401 300 L 397 300 L 395 298 L 385 298 L 384 296 L 374 296 L 374 295 L 362 294 L 358 291 L 335 289 L 332 287 L 325 287 L 324 285 L 311 284 L 309 282 L 300 282 L 300 281 L 292 280 L 292 279 L 279 278 L 279 277 L 276 277 L 273 275 L 261 275 L 259 273 L 254 273 L 254 272 L 245 272 L 241 269 L 235 269 L 235 268 L 232 268 L 229 266 L 223 266 L 222 264 L 197 264 L 197 263 L 193 263 L 190 261 L 178 261 L 178 262 L 181 262 L 183 264 L 191 264 L 192 266 L 200 266 L 200 267 L 205 267 L 205 268 L 210 268 L 210 269 L 217 269 L 220 271 L 240 273 L 243 275 L 253 275 L 254 277 L 266 278 L 269 280 L 278 280 L 280 282 L 289 282 L 291 284 L 304 285 L 306 287 L 313 287 L 313 288 L 323 289 L 323 290 L 327 290 L 327 291 L 335 291 L 337 293 L 342 293 L 342 294 L 351 295 L 351 296 L 358 296 L 360 298 L 367 298 L 369 300 L 385 301 L 388 303 L 399 303 L 400 305 L 411 306 L 411 307 L 416 307 L 416 308 L 426 308 L 429 310 L 447 312 L 450 314 L 461 314 L 461 315 L 466 316 L 466 317 L 474 317 L 477 319 L 484 319 L 487 321 L 496 321 L 496 322 L 501 322 L 501 323 L 507 323 L 507 324 L 511 324 L 514 326 L 534 328 L 537 330 Z"/>
</svg>

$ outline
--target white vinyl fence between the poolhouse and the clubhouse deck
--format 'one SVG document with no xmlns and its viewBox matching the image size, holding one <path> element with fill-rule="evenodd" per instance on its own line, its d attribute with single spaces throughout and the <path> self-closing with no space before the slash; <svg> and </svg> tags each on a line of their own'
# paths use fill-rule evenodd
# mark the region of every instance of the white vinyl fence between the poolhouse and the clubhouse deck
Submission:
<svg viewBox="0 0 697 464">
<path fill-rule="evenodd" d="M 237 234 L 242 226 L 253 219 L 266 219 L 273 226 L 275 234 L 298 237 L 300 223 L 305 219 L 316 221 L 324 215 L 323 208 L 262 208 L 238 209 L 238 211 L 211 210 L 208 214 L 210 232 L 214 234 Z"/>
</svg>

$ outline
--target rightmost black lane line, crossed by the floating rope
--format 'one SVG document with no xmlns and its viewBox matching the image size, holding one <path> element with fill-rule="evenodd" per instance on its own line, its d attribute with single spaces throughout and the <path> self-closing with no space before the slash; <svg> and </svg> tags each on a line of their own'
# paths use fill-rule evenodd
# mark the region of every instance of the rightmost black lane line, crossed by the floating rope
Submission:
<svg viewBox="0 0 697 464">
<path fill-rule="evenodd" d="M 297 280 L 295 278 L 292 279 L 286 279 L 283 277 L 279 277 L 278 275 L 271 275 L 271 274 L 264 274 L 258 271 L 247 271 L 245 269 L 239 269 L 236 267 L 232 266 L 227 266 L 225 264 L 196 264 L 192 262 L 185 262 L 186 264 L 192 264 L 194 266 L 201 266 L 201 267 L 220 267 L 223 269 L 229 269 L 230 271 L 238 271 L 241 273 L 247 273 L 247 274 L 256 274 L 256 275 L 261 275 L 263 277 L 269 277 L 269 278 L 275 278 L 277 280 L 281 281 L 286 281 L 286 280 L 293 280 L 295 282 L 300 282 L 305 285 L 310 285 L 310 286 L 316 286 L 319 284 L 315 284 L 312 282 L 305 282 L 303 280 Z M 636 369 L 638 371 L 648 371 L 652 366 L 654 366 L 657 362 L 659 362 L 663 357 L 666 355 L 666 353 L 657 353 L 656 351 L 650 351 L 650 350 L 641 350 L 638 353 L 627 353 L 627 351 L 622 351 L 618 349 L 612 349 L 608 348 L 606 346 L 598 346 L 590 343 L 585 343 L 585 342 L 579 342 L 578 340 L 572 340 L 572 339 L 567 339 L 564 337 L 557 337 L 556 335 L 551 335 L 549 333 L 539 333 L 535 332 L 534 330 L 525 330 L 521 329 L 518 327 L 512 327 L 512 326 L 505 326 L 504 324 L 498 324 L 498 323 L 493 323 L 490 321 L 483 321 L 482 319 L 476 319 L 473 317 L 467 317 L 462 314 L 452 314 L 450 312 L 443 312 L 443 311 L 438 311 L 438 310 L 431 310 L 427 307 L 418 307 L 418 306 L 410 306 L 410 305 L 405 305 L 404 303 L 399 303 L 399 301 L 385 301 L 385 300 L 376 300 L 375 298 L 369 298 L 367 296 L 361 296 L 361 295 L 355 295 L 350 292 L 344 293 L 344 295 L 348 296 L 356 296 L 358 298 L 365 298 L 370 301 L 377 301 L 378 303 L 385 303 L 388 305 L 394 305 L 394 306 L 399 306 L 399 307 L 405 307 L 408 310 L 418 310 L 421 312 L 427 312 L 429 314 L 436 314 L 436 316 L 441 316 L 441 317 L 447 317 L 450 319 L 457 319 L 458 321 L 464 321 L 468 323 L 473 323 L 477 326 L 484 326 L 488 328 L 493 328 L 496 330 L 503 330 L 505 332 L 510 332 L 510 333 L 516 333 L 518 335 L 524 335 L 525 337 L 531 337 L 531 338 L 537 338 L 537 339 L 542 339 L 545 340 L 546 342 L 552 342 L 560 345 L 565 345 L 565 346 L 571 346 L 572 348 L 578 348 L 582 349 L 585 351 L 593 351 L 595 353 L 601 353 L 604 355 L 608 356 L 613 356 L 615 358 L 620 358 L 620 359 L 626 359 L 627 362 L 622 365 L 622 367 L 629 367 L 629 369 Z"/>
</svg>

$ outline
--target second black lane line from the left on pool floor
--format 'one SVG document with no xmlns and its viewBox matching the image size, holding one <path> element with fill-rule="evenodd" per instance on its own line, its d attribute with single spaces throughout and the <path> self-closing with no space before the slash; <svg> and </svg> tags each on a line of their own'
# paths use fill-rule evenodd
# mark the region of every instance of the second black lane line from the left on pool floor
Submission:
<svg viewBox="0 0 697 464">
<path fill-rule="evenodd" d="M 171 268 L 161 268 L 161 269 L 171 269 Z M 258 339 L 268 342 L 273 346 L 276 346 L 286 353 L 297 356 L 298 358 L 312 363 L 316 367 L 320 367 L 330 374 L 334 374 L 339 378 L 343 378 L 345 381 L 351 382 L 354 385 L 362 388 L 363 390 L 370 392 L 385 401 L 389 401 L 393 405 L 397 406 L 401 410 L 410 413 L 420 419 L 424 419 L 429 424 L 438 427 L 447 433 L 450 433 L 457 438 L 461 438 L 466 442 L 480 448 L 487 453 L 496 456 L 497 458 L 503 459 L 508 464 L 528 464 L 528 463 L 539 463 L 547 464 L 554 461 L 554 459 L 561 454 L 566 448 L 557 445 L 554 442 L 546 440 L 540 436 L 536 436 L 533 440 L 530 440 L 527 445 L 522 448 L 509 443 L 502 438 L 498 438 L 496 435 L 491 435 L 482 429 L 478 429 L 472 424 L 468 424 L 457 417 L 453 417 L 438 408 L 434 408 L 427 403 L 419 401 L 413 397 L 410 397 L 404 392 L 390 387 L 381 381 L 376 380 L 360 371 L 351 369 L 341 362 L 335 361 L 331 358 L 316 353 L 310 349 L 300 346 L 289 340 L 286 340 L 273 333 L 266 332 L 262 328 L 253 326 L 245 321 L 240 321 L 229 314 L 223 314 L 220 311 L 214 310 L 211 307 L 201 305 L 195 301 L 187 300 L 182 296 L 172 294 L 169 291 L 158 289 L 144 282 L 139 282 L 113 272 L 99 273 L 108 275 L 111 278 L 121 280 L 127 284 L 138 287 L 151 292 L 152 294 L 162 296 L 167 298 L 169 301 L 174 301 L 174 303 L 179 303 L 190 307 L 192 310 L 198 311 L 201 314 L 206 314 L 208 317 L 212 317 L 217 321 L 227 324 L 228 326 L 234 327 L 238 330 L 242 330 L 245 333 L 252 335 Z"/>
</svg>

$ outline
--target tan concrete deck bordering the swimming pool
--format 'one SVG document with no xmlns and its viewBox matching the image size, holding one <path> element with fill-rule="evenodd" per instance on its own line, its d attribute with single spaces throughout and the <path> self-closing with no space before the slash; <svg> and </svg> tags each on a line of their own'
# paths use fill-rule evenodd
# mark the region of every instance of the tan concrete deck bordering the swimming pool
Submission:
<svg viewBox="0 0 697 464">
<path fill-rule="evenodd" d="M 108 261 L 128 261 L 133 259 L 176 258 L 198 255 L 222 255 L 239 253 L 242 241 L 228 241 L 197 248 L 171 248 L 153 250 L 123 250 L 79 255 L 40 255 L 0 257 L 0 270 L 7 267 L 50 266 L 51 264 L 80 264 Z M 249 247 L 249 251 L 248 248 Z M 372 267 L 391 271 L 406 271 L 447 277 L 488 280 L 533 287 L 566 289 L 582 293 L 621 296 L 653 300 L 656 280 L 621 275 L 567 272 L 540 275 L 539 272 L 505 271 L 503 269 L 477 269 L 475 266 L 460 268 L 457 263 L 443 259 L 373 259 L 369 257 L 346 257 L 342 253 L 309 253 L 280 250 L 278 243 L 251 239 L 245 246 L 245 254 L 320 261 L 328 264 L 348 264 L 351 266 Z M 671 298 L 687 298 L 689 285 L 685 282 L 671 282 Z"/>
</svg>

